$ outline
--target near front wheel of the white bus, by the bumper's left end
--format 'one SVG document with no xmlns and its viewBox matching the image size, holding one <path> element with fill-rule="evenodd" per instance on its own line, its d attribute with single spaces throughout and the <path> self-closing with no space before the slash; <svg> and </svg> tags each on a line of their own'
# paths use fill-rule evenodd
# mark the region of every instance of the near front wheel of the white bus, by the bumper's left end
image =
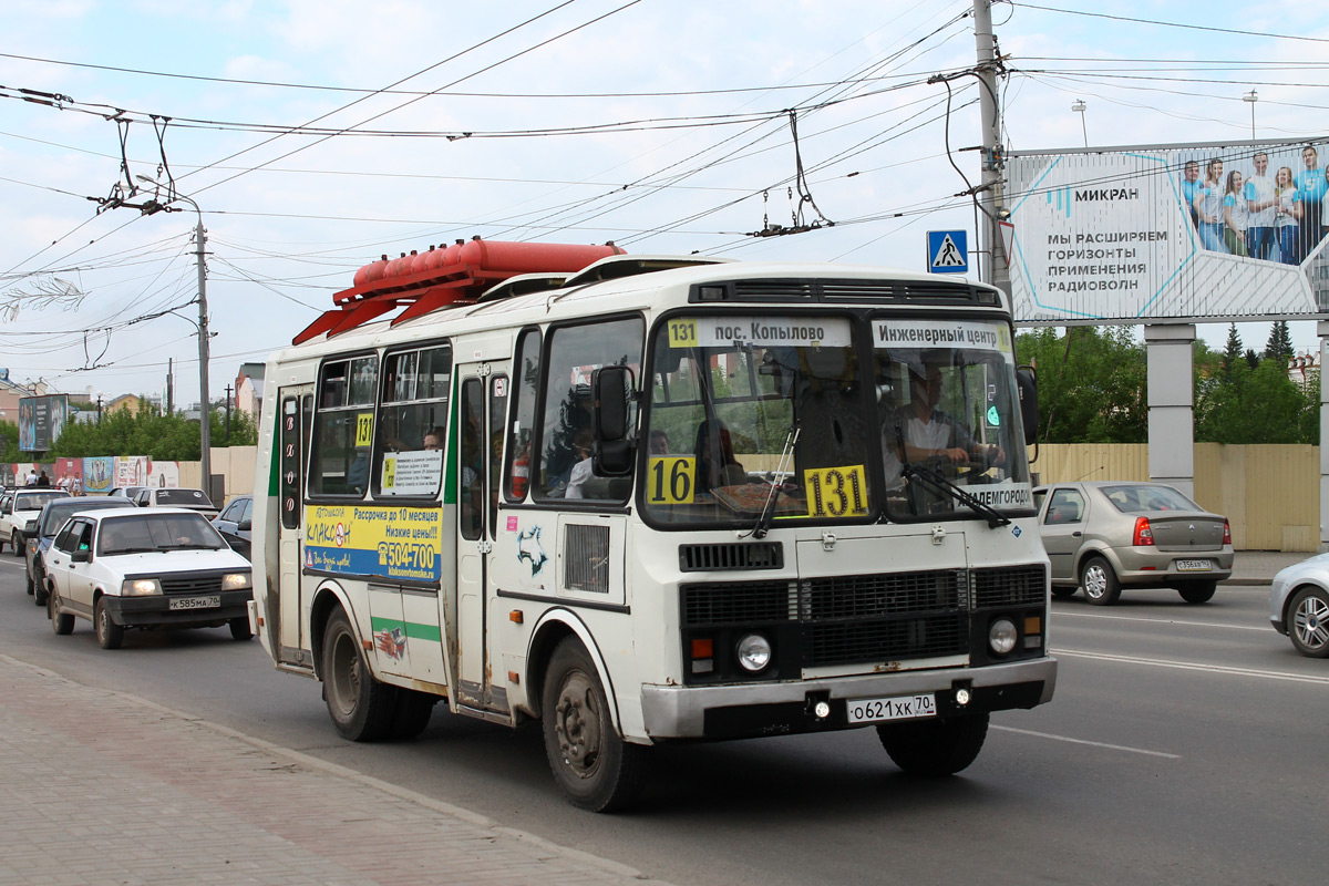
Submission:
<svg viewBox="0 0 1329 886">
<path fill-rule="evenodd" d="M 595 664 L 575 638 L 565 638 L 549 660 L 541 721 L 549 768 L 574 806 L 615 812 L 637 798 L 645 748 L 618 735 Z"/>
</svg>

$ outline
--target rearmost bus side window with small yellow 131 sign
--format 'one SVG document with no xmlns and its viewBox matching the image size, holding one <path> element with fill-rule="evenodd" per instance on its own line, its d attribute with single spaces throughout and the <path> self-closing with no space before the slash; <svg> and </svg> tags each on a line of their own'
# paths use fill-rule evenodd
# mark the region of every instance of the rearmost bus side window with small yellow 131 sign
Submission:
<svg viewBox="0 0 1329 886">
<path fill-rule="evenodd" d="M 310 491 L 363 498 L 369 486 L 379 359 L 335 360 L 319 372 Z"/>
</svg>

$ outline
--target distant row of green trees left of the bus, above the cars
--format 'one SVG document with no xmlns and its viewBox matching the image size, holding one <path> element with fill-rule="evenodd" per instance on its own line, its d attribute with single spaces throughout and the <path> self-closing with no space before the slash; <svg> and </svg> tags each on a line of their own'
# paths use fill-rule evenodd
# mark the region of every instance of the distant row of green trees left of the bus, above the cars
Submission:
<svg viewBox="0 0 1329 886">
<path fill-rule="evenodd" d="M 209 426 L 213 446 L 226 446 L 225 408 L 213 408 Z M 246 413 L 233 409 L 230 445 L 253 446 L 256 441 L 254 422 Z M 66 422 L 47 457 L 148 456 L 153 461 L 198 461 L 199 453 L 198 421 L 179 414 L 163 416 L 159 409 L 140 399 L 138 414 L 117 409 L 102 413 L 100 422 Z"/>
</svg>

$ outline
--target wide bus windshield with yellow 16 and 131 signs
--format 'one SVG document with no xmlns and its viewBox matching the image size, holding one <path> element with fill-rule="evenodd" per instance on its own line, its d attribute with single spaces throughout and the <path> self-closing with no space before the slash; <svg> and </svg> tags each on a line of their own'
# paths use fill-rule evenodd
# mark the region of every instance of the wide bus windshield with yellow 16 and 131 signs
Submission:
<svg viewBox="0 0 1329 886">
<path fill-rule="evenodd" d="M 688 316 L 662 323 L 651 347 L 642 482 L 655 522 L 742 529 L 1031 506 L 1005 323 Z"/>
</svg>

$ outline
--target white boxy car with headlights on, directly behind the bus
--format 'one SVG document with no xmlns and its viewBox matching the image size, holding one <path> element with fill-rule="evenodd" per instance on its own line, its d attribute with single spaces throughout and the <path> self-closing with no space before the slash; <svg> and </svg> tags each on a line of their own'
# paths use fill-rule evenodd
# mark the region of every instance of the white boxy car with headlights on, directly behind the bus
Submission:
<svg viewBox="0 0 1329 886">
<path fill-rule="evenodd" d="M 97 643 L 118 648 L 126 627 L 229 626 L 253 636 L 250 565 L 213 525 L 178 507 L 74 514 L 44 554 L 47 614 L 56 634 L 92 620 Z"/>
</svg>

